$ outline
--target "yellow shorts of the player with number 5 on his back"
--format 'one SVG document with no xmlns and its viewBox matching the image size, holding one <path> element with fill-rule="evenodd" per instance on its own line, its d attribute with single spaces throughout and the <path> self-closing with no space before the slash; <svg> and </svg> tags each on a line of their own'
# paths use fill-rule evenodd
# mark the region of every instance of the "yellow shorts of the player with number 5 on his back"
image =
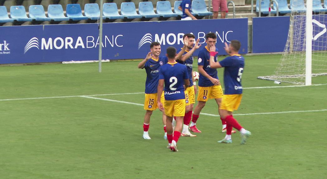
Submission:
<svg viewBox="0 0 327 179">
<path fill-rule="evenodd" d="M 233 112 L 237 110 L 241 104 L 242 94 L 239 95 L 224 95 L 219 109 Z"/>
</svg>

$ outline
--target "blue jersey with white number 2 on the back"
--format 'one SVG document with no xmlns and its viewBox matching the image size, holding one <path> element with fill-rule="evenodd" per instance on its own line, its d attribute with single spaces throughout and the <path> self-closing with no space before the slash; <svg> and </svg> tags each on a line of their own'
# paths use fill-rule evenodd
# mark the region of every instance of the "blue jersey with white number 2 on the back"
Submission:
<svg viewBox="0 0 327 179">
<path fill-rule="evenodd" d="M 167 63 L 160 67 L 159 79 L 164 79 L 165 100 L 185 99 L 184 80 L 189 79 L 185 65 Z"/>
</svg>

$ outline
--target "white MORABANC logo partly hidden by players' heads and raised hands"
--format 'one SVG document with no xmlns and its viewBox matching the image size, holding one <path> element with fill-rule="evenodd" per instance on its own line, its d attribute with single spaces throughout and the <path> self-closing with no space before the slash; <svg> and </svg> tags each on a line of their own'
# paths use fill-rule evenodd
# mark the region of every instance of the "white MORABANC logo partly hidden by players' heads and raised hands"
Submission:
<svg viewBox="0 0 327 179">
<path fill-rule="evenodd" d="M 224 42 L 230 42 L 228 35 L 230 33 L 233 33 L 233 31 L 221 31 L 221 32 L 215 32 L 217 36 L 217 41 L 221 41 L 222 43 Z M 193 34 L 193 33 L 191 33 Z M 205 43 L 205 32 L 198 32 L 196 34 L 196 38 L 200 39 L 200 44 Z M 139 41 L 139 46 L 138 49 L 140 49 L 143 45 L 146 43 L 151 44 L 153 41 L 154 42 L 159 42 L 161 45 L 180 45 L 183 44 L 183 36 L 184 33 L 168 33 L 168 34 L 154 34 L 154 36 L 150 33 L 146 33 L 141 40 Z M 153 40 L 154 37 L 154 40 Z"/>
</svg>

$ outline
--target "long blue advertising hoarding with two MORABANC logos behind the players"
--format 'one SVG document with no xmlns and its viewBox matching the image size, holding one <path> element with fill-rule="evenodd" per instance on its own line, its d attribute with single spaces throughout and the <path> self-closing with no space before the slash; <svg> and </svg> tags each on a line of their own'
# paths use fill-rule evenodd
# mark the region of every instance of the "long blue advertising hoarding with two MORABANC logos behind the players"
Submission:
<svg viewBox="0 0 327 179">
<path fill-rule="evenodd" d="M 208 32 L 217 35 L 219 54 L 226 54 L 224 42 L 233 39 L 241 42 L 240 53 L 248 52 L 247 18 L 124 22 L 103 24 L 102 59 L 143 59 L 153 41 L 161 43 L 163 54 L 169 46 L 181 48 L 186 33 L 193 33 L 204 47 Z M 97 60 L 98 41 L 96 23 L 2 26 L 0 64 Z"/>
</svg>

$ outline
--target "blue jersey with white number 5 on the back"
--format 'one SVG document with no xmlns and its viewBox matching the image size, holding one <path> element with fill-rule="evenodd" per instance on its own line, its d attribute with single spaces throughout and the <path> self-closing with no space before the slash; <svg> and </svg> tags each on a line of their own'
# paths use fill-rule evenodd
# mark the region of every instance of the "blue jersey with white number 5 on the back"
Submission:
<svg viewBox="0 0 327 179">
<path fill-rule="evenodd" d="M 224 70 L 225 95 L 242 94 L 242 74 L 244 69 L 244 57 L 233 55 L 219 62 Z"/>
</svg>

